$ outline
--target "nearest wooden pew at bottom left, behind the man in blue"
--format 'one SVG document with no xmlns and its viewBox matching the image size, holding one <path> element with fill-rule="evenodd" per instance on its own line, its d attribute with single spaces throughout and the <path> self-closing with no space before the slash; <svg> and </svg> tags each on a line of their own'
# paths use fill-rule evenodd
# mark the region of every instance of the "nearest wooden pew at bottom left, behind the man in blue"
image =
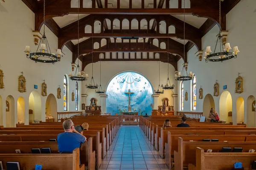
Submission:
<svg viewBox="0 0 256 170">
<path fill-rule="evenodd" d="M 84 164 L 79 165 L 79 148 L 66 154 L 0 154 L 0 160 L 4 169 L 7 161 L 18 161 L 21 170 L 35 169 L 35 164 L 42 165 L 45 170 L 84 170 Z"/>
</svg>

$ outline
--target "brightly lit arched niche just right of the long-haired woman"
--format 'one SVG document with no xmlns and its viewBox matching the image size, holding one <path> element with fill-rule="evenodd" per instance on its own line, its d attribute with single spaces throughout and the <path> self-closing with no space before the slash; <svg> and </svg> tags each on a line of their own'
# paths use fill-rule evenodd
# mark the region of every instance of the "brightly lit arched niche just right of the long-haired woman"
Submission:
<svg viewBox="0 0 256 170">
<path fill-rule="evenodd" d="M 232 97 L 229 91 L 223 91 L 220 97 L 220 120 L 232 122 L 232 116 L 228 116 L 229 112 L 232 112 Z"/>
</svg>

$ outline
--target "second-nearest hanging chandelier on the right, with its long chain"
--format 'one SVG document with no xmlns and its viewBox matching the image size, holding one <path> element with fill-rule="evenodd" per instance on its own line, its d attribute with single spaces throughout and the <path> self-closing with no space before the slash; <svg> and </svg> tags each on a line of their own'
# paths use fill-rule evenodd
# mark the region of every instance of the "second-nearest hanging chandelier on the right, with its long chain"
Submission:
<svg viewBox="0 0 256 170">
<path fill-rule="evenodd" d="M 185 57 L 185 0 L 184 0 L 184 6 L 183 6 L 183 11 L 184 11 L 184 35 L 183 35 L 183 56 Z M 187 80 L 192 80 L 194 78 L 194 74 L 192 73 L 192 71 L 187 72 L 187 63 L 184 62 L 181 73 L 178 72 L 177 74 L 175 74 L 175 80 L 177 81 L 187 81 Z"/>
</svg>

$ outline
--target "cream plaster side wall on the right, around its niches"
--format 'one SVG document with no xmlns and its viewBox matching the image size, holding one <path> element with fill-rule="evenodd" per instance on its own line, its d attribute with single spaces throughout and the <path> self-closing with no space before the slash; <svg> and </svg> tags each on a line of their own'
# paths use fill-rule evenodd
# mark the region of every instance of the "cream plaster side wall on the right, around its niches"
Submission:
<svg viewBox="0 0 256 170">
<path fill-rule="evenodd" d="M 241 51 L 238 54 L 238 58 L 230 59 L 224 62 L 205 62 L 198 60 L 195 56 L 195 52 L 198 51 L 194 46 L 188 53 L 188 71 L 192 71 L 197 76 L 197 89 L 199 90 L 200 85 L 204 89 L 204 96 L 206 94 L 213 94 L 213 86 L 215 80 L 219 83 L 219 94 L 224 91 L 223 85 L 227 85 L 227 90 L 232 96 L 232 107 L 233 107 L 233 122 L 236 123 L 236 100 L 239 96 L 247 99 L 248 96 L 256 95 L 255 88 L 255 62 L 256 58 L 253 52 L 255 48 L 255 28 L 256 28 L 256 12 L 255 12 L 256 1 L 255 0 L 241 0 L 228 14 L 227 14 L 227 31 L 228 37 L 227 42 L 230 42 L 232 47 L 238 46 Z M 207 46 L 212 47 L 214 50 L 216 43 L 216 35 L 219 32 L 218 26 L 214 26 L 203 38 L 202 38 L 202 49 L 205 51 Z M 178 62 L 178 69 L 181 71 L 182 60 Z M 244 92 L 242 94 L 236 94 L 235 91 L 235 80 L 237 74 L 241 73 L 241 77 L 244 80 Z M 190 94 L 190 83 L 184 84 L 184 90 Z M 198 93 L 197 93 L 198 94 Z M 213 97 L 215 101 L 215 110 L 219 112 L 219 99 Z M 189 100 L 184 102 L 184 111 L 190 110 L 191 95 Z M 204 99 L 198 99 L 197 95 L 197 112 L 203 111 Z M 247 101 L 244 101 L 246 106 Z M 178 102 L 180 103 L 180 102 Z M 246 107 L 244 113 L 247 113 Z M 244 114 L 244 122 L 246 123 L 246 114 Z"/>
</svg>

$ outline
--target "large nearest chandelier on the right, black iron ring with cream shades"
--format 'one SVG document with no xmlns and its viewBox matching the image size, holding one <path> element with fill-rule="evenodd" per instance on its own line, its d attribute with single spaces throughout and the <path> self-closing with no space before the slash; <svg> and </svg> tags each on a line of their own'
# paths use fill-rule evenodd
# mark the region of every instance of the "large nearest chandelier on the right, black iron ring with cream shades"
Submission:
<svg viewBox="0 0 256 170">
<path fill-rule="evenodd" d="M 220 24 L 220 28 L 221 28 L 221 0 L 219 0 L 219 24 Z M 216 52 L 218 42 L 220 44 L 220 51 Z M 228 43 L 228 42 L 225 44 L 225 48 L 223 48 L 223 36 L 221 35 L 221 30 L 220 30 L 220 32 L 218 34 L 218 37 L 217 37 L 217 42 L 216 42 L 213 53 L 210 54 L 212 52 L 210 46 L 207 46 L 207 48 L 206 48 L 206 52 L 204 53 L 205 62 L 208 62 L 208 61 L 211 61 L 211 62 L 221 61 L 221 62 L 223 62 L 223 61 L 228 60 L 228 59 L 236 58 L 237 53 L 240 52 L 238 50 L 238 47 L 235 46 L 233 48 L 233 52 L 230 52 L 229 51 L 230 49 L 231 49 L 230 43 Z"/>
</svg>

